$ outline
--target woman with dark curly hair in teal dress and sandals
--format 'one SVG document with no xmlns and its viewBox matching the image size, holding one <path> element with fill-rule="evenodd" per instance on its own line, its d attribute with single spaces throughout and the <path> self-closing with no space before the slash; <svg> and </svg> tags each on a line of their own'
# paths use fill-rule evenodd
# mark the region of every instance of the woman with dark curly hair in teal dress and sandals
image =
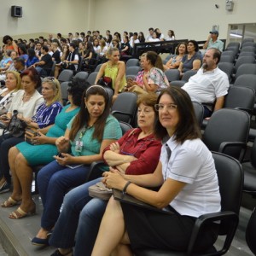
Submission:
<svg viewBox="0 0 256 256">
<path fill-rule="evenodd" d="M 55 80 L 56 81 L 56 80 Z M 38 129 L 39 136 L 34 137 L 32 144 L 19 143 L 9 150 L 9 166 L 13 174 L 14 190 L 6 202 L 5 207 L 15 205 L 20 201 L 20 208 L 29 212 L 34 206 L 31 195 L 32 167 L 49 164 L 53 156 L 58 153 L 55 141 L 64 135 L 67 124 L 79 112 L 85 84 L 73 80 L 68 87 L 70 104 L 65 106 L 55 118 L 55 124 L 43 129 Z"/>
</svg>

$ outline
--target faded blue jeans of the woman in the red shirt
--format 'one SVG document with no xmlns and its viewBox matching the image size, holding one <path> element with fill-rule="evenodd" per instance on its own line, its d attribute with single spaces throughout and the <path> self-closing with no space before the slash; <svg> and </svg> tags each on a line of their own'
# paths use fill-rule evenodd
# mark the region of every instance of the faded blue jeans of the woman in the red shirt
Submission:
<svg viewBox="0 0 256 256">
<path fill-rule="evenodd" d="M 88 188 L 102 177 L 72 189 L 64 198 L 61 215 L 55 224 L 49 244 L 54 247 L 74 248 L 74 255 L 91 255 L 102 216 L 108 201 L 91 198 Z"/>
</svg>

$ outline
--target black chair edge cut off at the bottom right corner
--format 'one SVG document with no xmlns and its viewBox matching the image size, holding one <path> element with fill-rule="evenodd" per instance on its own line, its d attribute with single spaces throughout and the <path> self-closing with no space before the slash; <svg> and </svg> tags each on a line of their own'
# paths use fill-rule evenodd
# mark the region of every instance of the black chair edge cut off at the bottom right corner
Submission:
<svg viewBox="0 0 256 256">
<path fill-rule="evenodd" d="M 256 210 L 253 209 L 252 215 L 249 219 L 249 222 L 247 224 L 247 230 L 246 230 L 246 241 L 248 247 L 251 249 L 254 255 L 256 255 Z"/>
</svg>

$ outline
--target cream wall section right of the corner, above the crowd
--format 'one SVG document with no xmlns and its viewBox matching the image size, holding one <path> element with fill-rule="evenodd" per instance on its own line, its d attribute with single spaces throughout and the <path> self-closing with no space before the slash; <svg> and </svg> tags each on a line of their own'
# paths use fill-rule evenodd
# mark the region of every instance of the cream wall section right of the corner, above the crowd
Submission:
<svg viewBox="0 0 256 256">
<path fill-rule="evenodd" d="M 205 40 L 212 25 L 219 25 L 219 38 L 227 38 L 228 24 L 256 21 L 256 1 L 234 0 L 231 12 L 225 10 L 225 3 L 225 0 L 96 0 L 96 28 L 148 33 L 148 27 L 153 26 L 165 35 L 172 29 L 177 38 Z"/>
</svg>

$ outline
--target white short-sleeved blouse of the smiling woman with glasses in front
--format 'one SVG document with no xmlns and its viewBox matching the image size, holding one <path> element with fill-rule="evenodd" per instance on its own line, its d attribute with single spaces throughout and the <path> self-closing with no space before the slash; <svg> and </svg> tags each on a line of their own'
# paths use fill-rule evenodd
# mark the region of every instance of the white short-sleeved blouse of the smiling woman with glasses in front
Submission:
<svg viewBox="0 0 256 256">
<path fill-rule="evenodd" d="M 161 148 L 160 162 L 164 178 L 187 183 L 170 205 L 180 214 L 199 217 L 201 214 L 219 212 L 220 194 L 218 176 L 212 153 L 201 139 L 176 143 L 167 141 L 172 154 L 167 157 L 166 144 Z"/>
</svg>

